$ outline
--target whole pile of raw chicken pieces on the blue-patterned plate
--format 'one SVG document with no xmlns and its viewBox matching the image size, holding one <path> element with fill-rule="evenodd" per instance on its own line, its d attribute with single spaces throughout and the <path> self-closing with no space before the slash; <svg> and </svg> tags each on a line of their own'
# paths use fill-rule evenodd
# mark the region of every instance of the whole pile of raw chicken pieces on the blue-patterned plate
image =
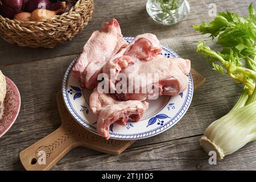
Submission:
<svg viewBox="0 0 256 182">
<path fill-rule="evenodd" d="M 82 87 L 94 88 L 89 105 L 93 113 L 98 115 L 97 132 L 102 137 L 109 139 L 109 127 L 114 122 L 125 125 L 128 121 L 139 121 L 148 108 L 144 100 L 156 94 L 175 96 L 187 88 L 190 61 L 167 59 L 160 55 L 161 51 L 162 46 L 153 34 L 138 35 L 128 45 L 122 39 L 121 29 L 115 19 L 103 24 L 100 31 L 93 32 L 72 68 L 72 75 Z M 113 89 L 115 94 L 100 93 L 100 89 L 95 88 L 97 77 L 102 72 L 108 76 L 104 77 L 104 82 L 110 84 L 106 90 Z M 139 81 L 143 78 L 141 75 L 147 73 L 158 73 L 158 79 L 147 80 L 144 85 L 134 85 L 131 93 L 117 93 L 118 84 L 123 81 L 120 75 L 128 78 L 125 86 L 130 86 L 131 81 Z M 151 90 L 142 93 L 148 86 L 158 92 Z"/>
</svg>

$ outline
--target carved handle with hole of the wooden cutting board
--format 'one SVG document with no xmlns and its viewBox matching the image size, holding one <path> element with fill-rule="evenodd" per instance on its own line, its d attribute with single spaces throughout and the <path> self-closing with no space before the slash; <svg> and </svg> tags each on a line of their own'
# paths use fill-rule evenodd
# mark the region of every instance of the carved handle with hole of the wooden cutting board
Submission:
<svg viewBox="0 0 256 182">
<path fill-rule="evenodd" d="M 23 167 L 30 171 L 49 170 L 72 148 L 79 146 L 63 126 L 20 152 Z"/>
</svg>

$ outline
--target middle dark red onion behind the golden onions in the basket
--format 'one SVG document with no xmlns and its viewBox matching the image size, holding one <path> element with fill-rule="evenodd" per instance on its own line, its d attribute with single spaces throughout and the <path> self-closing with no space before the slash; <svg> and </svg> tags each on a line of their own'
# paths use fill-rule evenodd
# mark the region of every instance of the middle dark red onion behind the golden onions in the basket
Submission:
<svg viewBox="0 0 256 182">
<path fill-rule="evenodd" d="M 25 10 L 29 13 L 36 9 L 49 9 L 51 2 L 49 0 L 27 0 Z"/>
</svg>

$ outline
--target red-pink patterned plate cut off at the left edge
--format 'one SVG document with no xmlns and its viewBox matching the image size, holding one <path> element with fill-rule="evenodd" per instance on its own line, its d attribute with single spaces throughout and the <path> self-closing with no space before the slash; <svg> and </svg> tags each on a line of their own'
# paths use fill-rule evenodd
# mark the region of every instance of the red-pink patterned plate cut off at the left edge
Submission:
<svg viewBox="0 0 256 182">
<path fill-rule="evenodd" d="M 6 77 L 5 101 L 0 107 L 0 137 L 2 137 L 15 122 L 20 109 L 19 90 L 9 78 Z"/>
</svg>

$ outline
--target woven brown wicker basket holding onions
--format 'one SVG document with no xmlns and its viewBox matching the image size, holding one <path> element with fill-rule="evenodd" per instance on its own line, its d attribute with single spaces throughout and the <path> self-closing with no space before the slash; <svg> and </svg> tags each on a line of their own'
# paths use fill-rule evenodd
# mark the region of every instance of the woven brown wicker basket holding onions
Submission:
<svg viewBox="0 0 256 182">
<path fill-rule="evenodd" d="M 0 35 L 19 46 L 53 48 L 82 31 L 92 13 L 93 0 L 79 0 L 68 13 L 38 22 L 20 22 L 0 15 Z"/>
</svg>

